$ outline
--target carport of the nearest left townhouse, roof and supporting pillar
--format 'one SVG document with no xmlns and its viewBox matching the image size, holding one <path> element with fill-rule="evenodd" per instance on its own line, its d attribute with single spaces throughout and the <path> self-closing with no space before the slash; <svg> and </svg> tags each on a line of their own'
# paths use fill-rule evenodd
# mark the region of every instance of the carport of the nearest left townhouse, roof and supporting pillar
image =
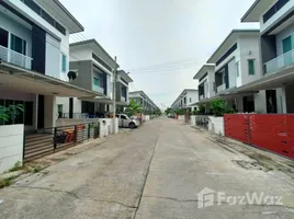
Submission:
<svg viewBox="0 0 294 219">
<path fill-rule="evenodd" d="M 54 127 L 57 118 L 56 96 L 94 97 L 97 92 L 72 85 L 66 81 L 0 61 L 0 99 L 22 101 L 32 96 L 33 123 L 29 129 Z M 29 112 L 26 112 L 29 113 Z"/>
</svg>

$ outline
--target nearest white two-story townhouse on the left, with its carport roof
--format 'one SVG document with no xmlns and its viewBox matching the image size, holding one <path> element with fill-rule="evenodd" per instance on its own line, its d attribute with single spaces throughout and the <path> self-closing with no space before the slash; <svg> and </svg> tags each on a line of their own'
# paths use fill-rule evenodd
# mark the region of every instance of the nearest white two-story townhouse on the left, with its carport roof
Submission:
<svg viewBox="0 0 294 219">
<path fill-rule="evenodd" d="M 58 96 L 94 96 L 68 81 L 69 35 L 83 26 L 58 1 L 0 1 L 0 105 L 24 112 L 4 124 L 54 127 Z"/>
</svg>

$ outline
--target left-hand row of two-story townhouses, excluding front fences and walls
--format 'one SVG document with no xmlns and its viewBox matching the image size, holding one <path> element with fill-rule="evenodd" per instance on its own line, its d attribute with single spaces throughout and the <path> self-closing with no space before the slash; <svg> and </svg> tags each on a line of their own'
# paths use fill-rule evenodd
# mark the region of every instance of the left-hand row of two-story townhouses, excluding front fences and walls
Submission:
<svg viewBox="0 0 294 219">
<path fill-rule="evenodd" d="M 145 112 L 158 108 L 144 92 L 129 93 L 132 78 L 95 39 L 69 43 L 83 31 L 58 0 L 0 1 L 0 105 L 24 106 L 1 125 L 34 130 L 55 127 L 58 118 L 108 117 L 113 85 L 118 107 L 142 94 Z"/>
</svg>

